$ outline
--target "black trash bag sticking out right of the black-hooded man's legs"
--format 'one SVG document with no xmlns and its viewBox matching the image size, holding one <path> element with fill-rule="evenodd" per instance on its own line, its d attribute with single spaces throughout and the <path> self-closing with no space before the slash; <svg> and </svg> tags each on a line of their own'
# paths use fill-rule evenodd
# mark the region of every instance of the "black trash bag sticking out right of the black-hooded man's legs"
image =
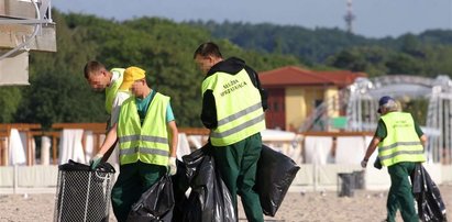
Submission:
<svg viewBox="0 0 452 222">
<path fill-rule="evenodd" d="M 261 198 L 264 214 L 276 214 L 299 169 L 300 167 L 288 156 L 262 145 L 254 189 Z"/>
</svg>

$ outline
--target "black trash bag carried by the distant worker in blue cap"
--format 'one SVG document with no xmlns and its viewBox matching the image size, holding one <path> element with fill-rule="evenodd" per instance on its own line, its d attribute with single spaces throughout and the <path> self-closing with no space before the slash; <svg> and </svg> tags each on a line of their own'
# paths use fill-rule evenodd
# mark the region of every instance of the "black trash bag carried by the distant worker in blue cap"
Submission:
<svg viewBox="0 0 452 222">
<path fill-rule="evenodd" d="M 416 165 L 411 180 L 419 219 L 423 222 L 448 221 L 440 190 L 421 164 Z"/>
</svg>

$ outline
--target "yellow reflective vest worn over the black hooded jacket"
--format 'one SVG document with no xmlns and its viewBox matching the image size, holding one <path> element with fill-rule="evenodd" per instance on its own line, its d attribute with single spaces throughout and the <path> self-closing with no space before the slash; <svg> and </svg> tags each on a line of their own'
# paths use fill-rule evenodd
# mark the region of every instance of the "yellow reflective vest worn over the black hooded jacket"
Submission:
<svg viewBox="0 0 452 222">
<path fill-rule="evenodd" d="M 210 141 L 227 146 L 265 130 L 261 95 L 245 69 L 236 75 L 218 71 L 202 81 L 202 95 L 212 90 L 218 125 Z"/>
</svg>

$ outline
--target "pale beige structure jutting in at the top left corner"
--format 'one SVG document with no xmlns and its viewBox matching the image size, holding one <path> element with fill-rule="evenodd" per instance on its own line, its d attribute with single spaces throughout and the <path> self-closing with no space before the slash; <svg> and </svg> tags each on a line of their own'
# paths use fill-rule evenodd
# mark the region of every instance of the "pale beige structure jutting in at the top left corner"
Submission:
<svg viewBox="0 0 452 222">
<path fill-rule="evenodd" d="M 0 86 L 30 85 L 29 51 L 56 52 L 51 0 L 0 0 Z"/>
</svg>

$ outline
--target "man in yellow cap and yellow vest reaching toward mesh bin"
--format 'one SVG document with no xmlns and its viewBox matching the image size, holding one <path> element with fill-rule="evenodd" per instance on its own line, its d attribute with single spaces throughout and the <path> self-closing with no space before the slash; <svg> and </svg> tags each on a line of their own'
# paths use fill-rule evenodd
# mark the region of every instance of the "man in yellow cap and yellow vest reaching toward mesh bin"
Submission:
<svg viewBox="0 0 452 222">
<path fill-rule="evenodd" d="M 167 170 L 175 175 L 178 131 L 169 97 L 151 89 L 145 71 L 139 67 L 124 70 L 120 90 L 132 95 L 122 106 L 118 123 L 113 124 L 91 168 L 119 140 L 120 175 L 111 191 L 114 215 L 125 221 L 141 195 L 157 182 Z"/>
</svg>

